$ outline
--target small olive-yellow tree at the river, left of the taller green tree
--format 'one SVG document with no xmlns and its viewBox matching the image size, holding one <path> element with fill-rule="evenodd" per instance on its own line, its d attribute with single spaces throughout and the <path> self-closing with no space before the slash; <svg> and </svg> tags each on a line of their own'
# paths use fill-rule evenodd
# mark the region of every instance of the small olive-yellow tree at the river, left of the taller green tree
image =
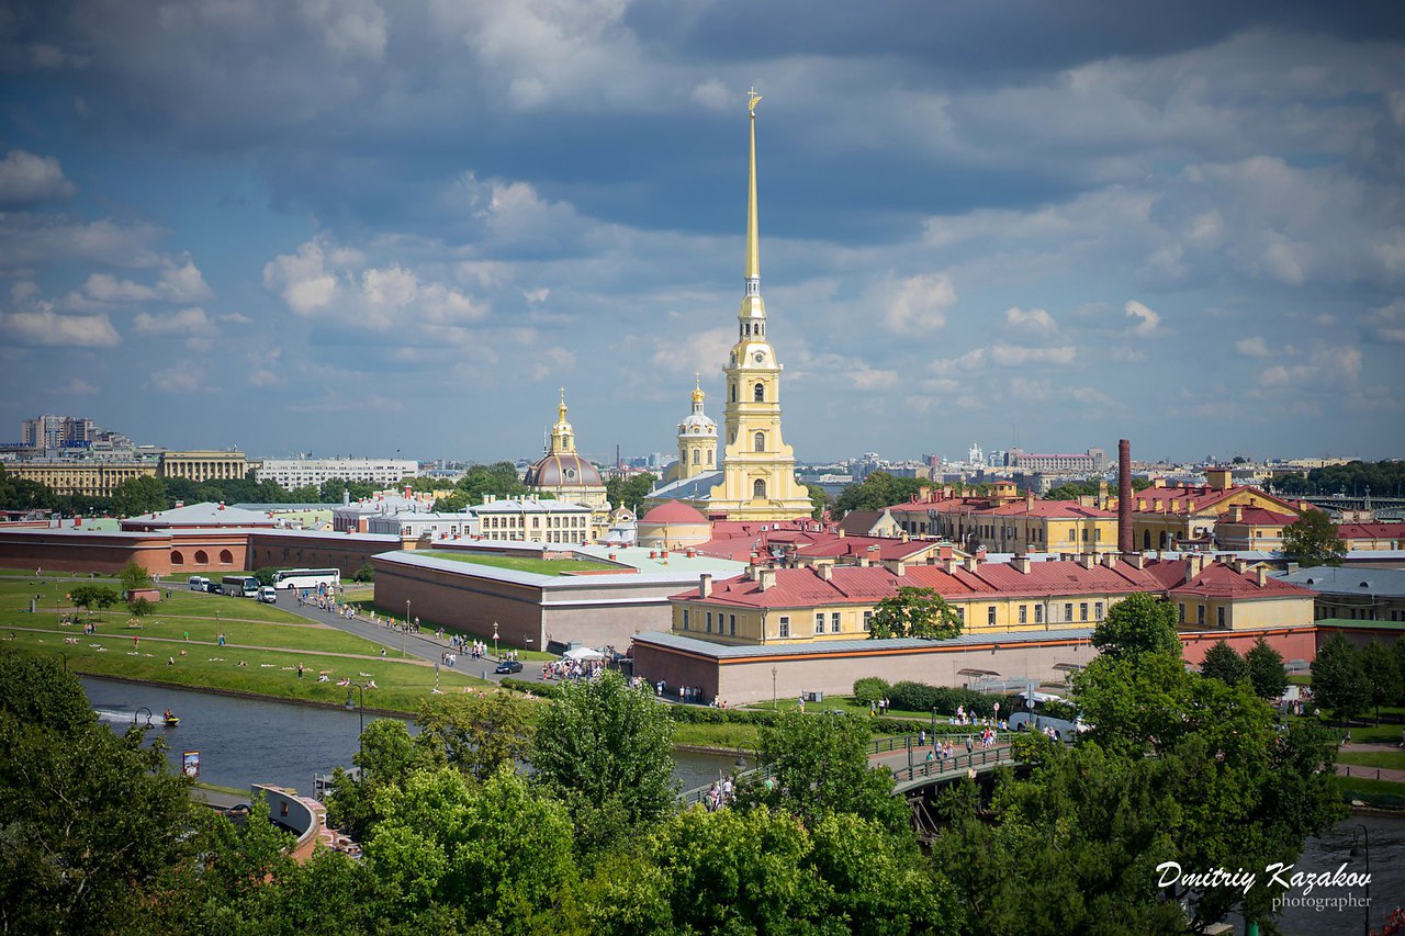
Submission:
<svg viewBox="0 0 1405 936">
<path fill-rule="evenodd" d="M 416 724 L 422 745 L 443 745 L 447 763 L 486 780 L 527 756 L 531 718 L 532 703 L 504 690 L 420 703 Z"/>
</svg>

